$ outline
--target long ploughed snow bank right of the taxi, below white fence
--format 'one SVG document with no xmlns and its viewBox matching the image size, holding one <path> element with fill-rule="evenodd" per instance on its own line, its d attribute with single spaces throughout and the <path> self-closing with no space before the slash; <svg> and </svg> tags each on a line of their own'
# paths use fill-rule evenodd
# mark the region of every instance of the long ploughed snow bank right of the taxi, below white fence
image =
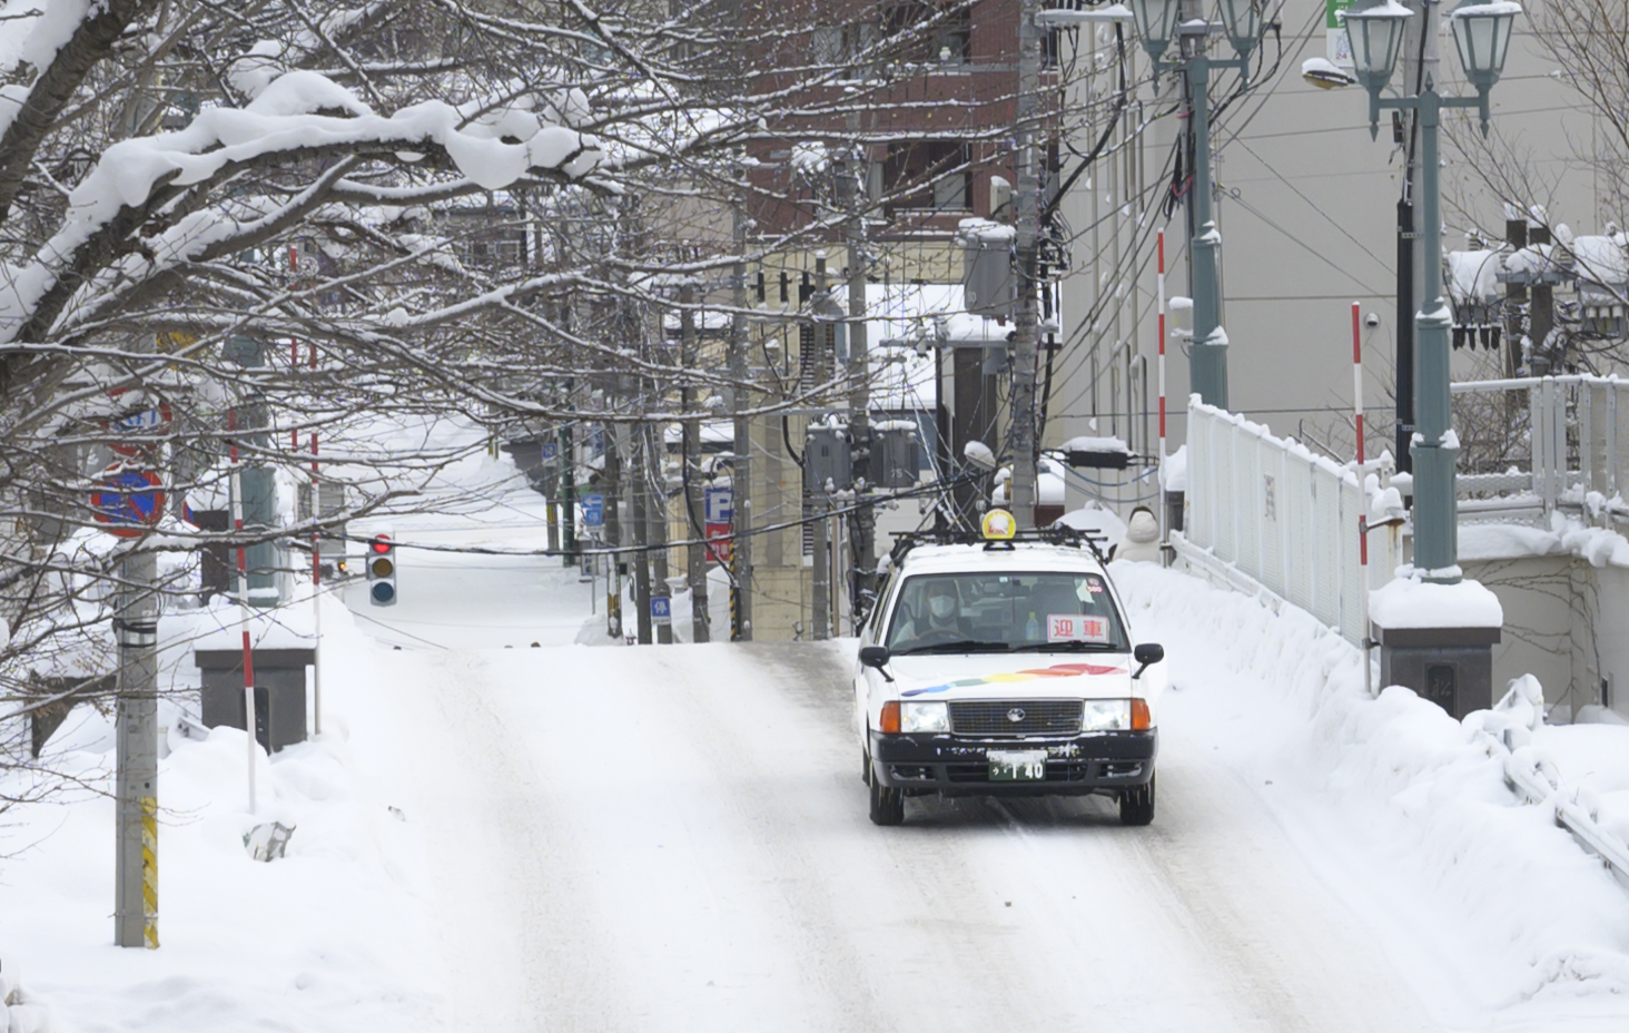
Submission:
<svg viewBox="0 0 1629 1033">
<path fill-rule="evenodd" d="M 1311 829 L 1303 849 L 1344 867 L 1354 911 L 1381 921 L 1372 893 L 1419 924 L 1381 930 L 1404 968 L 1453 966 L 1512 1018 L 1629 992 L 1629 895 L 1554 811 L 1510 792 L 1479 730 L 1487 712 L 1461 725 L 1409 689 L 1368 697 L 1357 650 L 1290 606 L 1147 564 L 1113 574 L 1139 639 L 1183 647 L 1168 653 L 1161 763 L 1215 751 L 1287 828 Z M 1425 930 L 1456 940 L 1451 958 L 1411 953 Z"/>
</svg>

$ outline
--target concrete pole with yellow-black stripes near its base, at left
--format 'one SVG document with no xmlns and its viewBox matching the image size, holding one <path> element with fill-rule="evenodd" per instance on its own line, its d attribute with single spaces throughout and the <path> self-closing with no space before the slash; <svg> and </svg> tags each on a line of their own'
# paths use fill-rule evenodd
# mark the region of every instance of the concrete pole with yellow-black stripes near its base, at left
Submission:
<svg viewBox="0 0 1629 1033">
<path fill-rule="evenodd" d="M 114 942 L 158 947 L 158 556 L 130 552 L 114 631 L 119 639 Z M 254 736 L 254 722 L 249 722 Z"/>
</svg>

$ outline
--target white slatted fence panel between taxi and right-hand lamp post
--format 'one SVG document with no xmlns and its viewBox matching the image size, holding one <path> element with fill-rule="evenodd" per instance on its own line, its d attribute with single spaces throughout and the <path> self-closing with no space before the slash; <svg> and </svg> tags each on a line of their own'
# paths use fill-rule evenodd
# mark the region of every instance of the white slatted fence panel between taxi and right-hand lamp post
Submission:
<svg viewBox="0 0 1629 1033">
<path fill-rule="evenodd" d="M 1179 549 L 1197 547 L 1362 644 L 1367 503 L 1354 466 L 1189 401 L 1186 508 Z"/>
</svg>

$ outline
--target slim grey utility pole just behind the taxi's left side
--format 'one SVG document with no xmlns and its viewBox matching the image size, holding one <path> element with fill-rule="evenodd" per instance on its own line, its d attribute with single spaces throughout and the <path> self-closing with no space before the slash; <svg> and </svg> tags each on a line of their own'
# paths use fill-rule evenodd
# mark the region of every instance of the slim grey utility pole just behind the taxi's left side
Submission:
<svg viewBox="0 0 1629 1033">
<path fill-rule="evenodd" d="M 849 116 L 849 130 L 858 134 L 858 116 Z M 854 433 L 854 442 L 858 448 L 865 450 L 860 455 L 870 453 L 870 435 L 872 435 L 872 370 L 865 329 L 867 314 L 867 298 L 865 298 L 865 279 L 867 267 L 870 266 L 870 257 L 865 253 L 865 152 L 858 150 L 849 155 L 847 169 L 837 179 L 839 191 L 847 187 L 849 192 L 849 225 L 845 226 L 845 236 L 849 244 L 849 430 Z M 867 463 L 862 466 L 867 471 L 867 479 L 873 476 L 872 466 Z M 863 500 L 865 492 L 870 486 L 862 486 L 855 481 L 855 495 Z M 876 510 L 868 505 L 860 505 L 854 510 L 852 520 L 852 538 L 854 538 L 854 596 L 849 606 L 850 619 L 854 621 L 854 631 L 858 632 L 858 621 L 872 608 L 872 600 L 876 595 Z"/>
</svg>

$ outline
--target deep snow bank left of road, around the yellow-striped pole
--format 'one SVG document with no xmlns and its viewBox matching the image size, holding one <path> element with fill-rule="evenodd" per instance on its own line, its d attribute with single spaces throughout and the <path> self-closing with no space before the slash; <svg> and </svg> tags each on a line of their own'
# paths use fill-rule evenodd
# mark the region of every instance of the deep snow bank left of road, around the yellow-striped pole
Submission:
<svg viewBox="0 0 1629 1033">
<path fill-rule="evenodd" d="M 375 678 L 381 647 L 337 600 L 326 603 L 324 735 L 270 758 L 257 751 L 256 813 L 246 808 L 244 733 L 199 730 L 176 697 L 160 704 L 156 952 L 111 947 L 111 714 L 77 707 L 52 738 L 46 763 L 83 789 L 7 811 L 0 935 L 26 950 L 18 961 L 29 991 L 50 1002 L 57 1028 L 225 1033 L 272 1022 L 363 1033 L 440 1023 L 446 987 L 427 932 L 432 880 L 419 862 L 415 803 L 362 774 L 394 763 L 407 740 L 389 686 Z M 176 627 L 166 619 L 161 635 Z M 163 663 L 161 678 L 189 668 Z M 352 714 L 367 720 L 353 725 Z M 8 774 L 0 795 L 26 776 Z M 283 859 L 261 864 L 244 834 L 270 821 L 295 833 Z M 13 1009 L 13 1033 L 44 1028 L 16 1023 Z"/>
</svg>

